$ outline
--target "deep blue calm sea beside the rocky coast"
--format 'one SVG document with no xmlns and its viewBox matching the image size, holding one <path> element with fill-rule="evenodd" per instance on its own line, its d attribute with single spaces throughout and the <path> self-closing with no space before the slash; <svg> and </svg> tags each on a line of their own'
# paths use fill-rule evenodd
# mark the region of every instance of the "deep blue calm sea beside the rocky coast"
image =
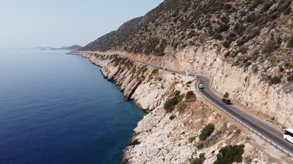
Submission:
<svg viewBox="0 0 293 164">
<path fill-rule="evenodd" d="M 116 164 L 145 115 L 88 59 L 0 49 L 1 164 Z"/>
</svg>

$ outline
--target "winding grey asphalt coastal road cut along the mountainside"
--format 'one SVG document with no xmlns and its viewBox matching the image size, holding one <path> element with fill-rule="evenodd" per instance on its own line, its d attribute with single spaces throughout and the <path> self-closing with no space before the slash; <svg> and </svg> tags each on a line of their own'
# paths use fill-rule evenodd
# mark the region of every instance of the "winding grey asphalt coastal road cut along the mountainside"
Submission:
<svg viewBox="0 0 293 164">
<path fill-rule="evenodd" d="M 178 72 L 171 69 L 166 69 L 161 66 L 153 65 L 150 63 L 146 63 L 137 59 L 129 58 L 124 55 L 120 55 L 122 57 L 128 58 L 130 60 L 145 64 L 147 66 L 157 68 L 160 70 L 168 71 L 171 73 L 176 73 L 180 75 L 186 75 L 186 73 Z M 190 74 L 190 76 L 196 76 L 195 74 Z M 211 101 L 215 106 L 220 108 L 222 111 L 227 113 L 229 116 L 234 118 L 236 121 L 242 123 L 245 125 L 245 127 L 252 130 L 254 133 L 257 133 L 258 135 L 262 136 L 265 140 L 270 142 L 273 145 L 277 145 L 279 149 L 283 149 L 284 152 L 290 156 L 293 156 L 293 144 L 290 142 L 287 142 L 283 138 L 283 132 L 279 129 L 271 126 L 270 124 L 254 117 L 253 115 L 245 112 L 244 110 L 238 108 L 237 106 L 230 104 L 223 104 L 221 102 L 221 97 L 217 95 L 212 89 L 211 84 L 213 82 L 213 77 L 205 76 L 205 75 L 198 75 L 198 83 L 196 85 L 196 89 L 209 101 Z M 203 84 L 204 88 L 200 89 L 199 84 Z M 232 102 L 233 103 L 233 102 Z"/>
</svg>

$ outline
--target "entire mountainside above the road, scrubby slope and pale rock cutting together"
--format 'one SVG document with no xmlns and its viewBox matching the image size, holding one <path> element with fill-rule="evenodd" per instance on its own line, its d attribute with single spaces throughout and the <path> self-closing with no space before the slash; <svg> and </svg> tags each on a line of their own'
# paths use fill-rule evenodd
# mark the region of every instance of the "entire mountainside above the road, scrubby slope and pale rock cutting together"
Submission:
<svg viewBox="0 0 293 164">
<path fill-rule="evenodd" d="M 165 0 L 80 51 L 214 76 L 220 94 L 293 126 L 292 0 Z"/>
</svg>

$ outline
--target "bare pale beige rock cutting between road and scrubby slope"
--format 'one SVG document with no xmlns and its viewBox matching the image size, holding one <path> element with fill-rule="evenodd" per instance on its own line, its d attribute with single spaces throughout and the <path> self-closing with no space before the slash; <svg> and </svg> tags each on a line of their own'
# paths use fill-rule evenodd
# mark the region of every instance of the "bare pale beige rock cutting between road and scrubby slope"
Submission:
<svg viewBox="0 0 293 164">
<path fill-rule="evenodd" d="M 85 54 L 123 54 L 155 65 L 177 71 L 214 76 L 212 87 L 223 94 L 229 92 L 233 101 L 255 111 L 265 118 L 274 118 L 279 127 L 293 125 L 293 84 L 269 84 L 254 67 L 239 68 L 223 59 L 225 51 L 218 47 L 193 47 L 177 52 L 176 55 L 162 57 L 131 54 L 120 51 L 76 52 Z M 268 65 L 269 62 L 268 62 Z M 268 69 L 270 67 L 267 67 Z M 279 74 L 275 69 L 270 74 Z"/>
</svg>

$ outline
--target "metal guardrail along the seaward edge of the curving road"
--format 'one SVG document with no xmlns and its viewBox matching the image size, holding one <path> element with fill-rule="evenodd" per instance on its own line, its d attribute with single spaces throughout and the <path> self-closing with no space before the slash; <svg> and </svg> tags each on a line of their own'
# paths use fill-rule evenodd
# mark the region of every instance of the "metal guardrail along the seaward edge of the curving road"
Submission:
<svg viewBox="0 0 293 164">
<path fill-rule="evenodd" d="M 196 87 L 197 88 L 197 87 Z M 245 123 L 241 122 L 240 120 L 238 120 L 237 118 L 235 118 L 234 116 L 230 115 L 228 112 L 226 112 L 225 110 L 223 110 L 221 107 L 219 107 L 217 104 L 215 104 L 214 102 L 212 102 L 210 99 L 208 99 L 205 95 L 203 95 L 199 89 L 197 88 L 198 92 L 200 93 L 201 96 L 203 96 L 206 100 L 208 100 L 210 103 L 212 103 L 213 105 L 215 105 L 217 108 L 219 108 L 222 112 L 224 112 L 225 114 L 227 114 L 230 118 L 236 120 L 238 123 L 242 124 L 244 127 L 246 127 L 247 129 L 249 129 L 250 131 L 252 131 L 254 134 L 256 134 L 257 136 L 259 136 L 261 139 L 263 139 L 265 142 L 269 142 L 270 145 L 273 145 L 276 149 L 279 149 L 282 153 L 285 153 L 287 155 L 287 157 L 292 157 L 293 158 L 293 154 L 289 153 L 287 150 L 285 150 L 284 148 L 282 148 L 281 146 L 278 146 L 276 143 L 274 143 L 273 141 L 271 141 L 268 138 L 265 138 L 263 135 L 261 135 L 260 133 L 258 133 L 256 130 L 254 130 L 253 128 L 249 127 L 248 125 L 246 125 Z"/>
</svg>

